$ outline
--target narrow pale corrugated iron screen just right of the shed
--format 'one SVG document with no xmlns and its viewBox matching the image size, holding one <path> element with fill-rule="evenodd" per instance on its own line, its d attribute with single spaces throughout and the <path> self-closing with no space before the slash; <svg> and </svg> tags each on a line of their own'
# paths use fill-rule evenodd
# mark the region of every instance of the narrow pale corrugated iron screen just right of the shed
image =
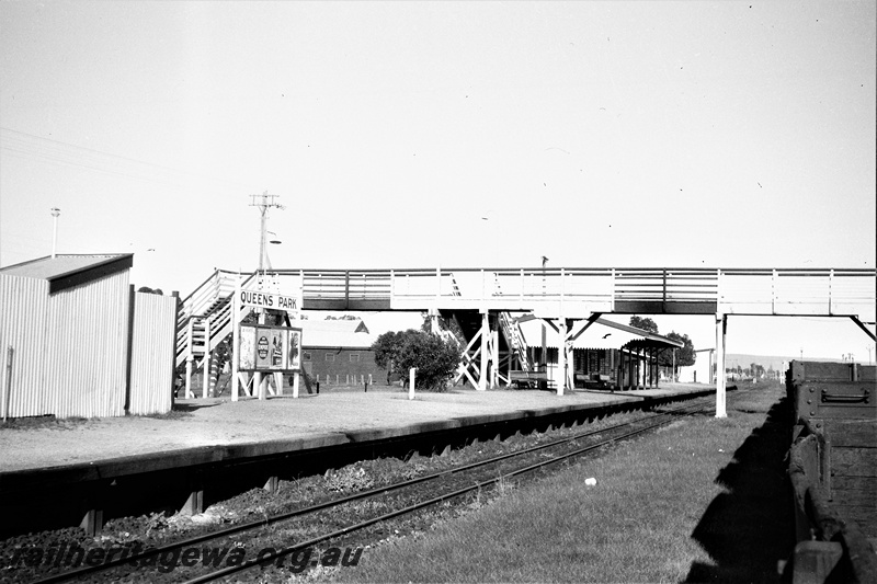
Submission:
<svg viewBox="0 0 877 584">
<path fill-rule="evenodd" d="M 129 413 L 167 413 L 173 408 L 175 330 L 176 297 L 134 293 Z"/>
</svg>

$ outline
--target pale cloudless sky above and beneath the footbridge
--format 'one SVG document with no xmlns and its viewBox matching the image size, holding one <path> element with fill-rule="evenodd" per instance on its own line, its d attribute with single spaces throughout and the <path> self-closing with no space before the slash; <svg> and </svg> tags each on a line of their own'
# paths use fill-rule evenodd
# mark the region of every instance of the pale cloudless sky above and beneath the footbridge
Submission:
<svg viewBox="0 0 877 584">
<path fill-rule="evenodd" d="M 59 253 L 134 252 L 137 285 L 186 295 L 257 266 L 267 191 L 283 267 L 873 268 L 875 21 L 870 1 L 3 1 L 0 265 L 50 253 L 56 206 Z M 729 350 L 866 358 L 851 322 L 781 320 L 732 320 Z"/>
</svg>

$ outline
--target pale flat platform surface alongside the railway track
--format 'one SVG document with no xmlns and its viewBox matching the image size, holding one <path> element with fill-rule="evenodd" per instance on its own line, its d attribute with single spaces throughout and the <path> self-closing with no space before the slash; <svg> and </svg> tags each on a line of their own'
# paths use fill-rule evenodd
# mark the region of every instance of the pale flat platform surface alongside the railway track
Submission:
<svg viewBox="0 0 877 584">
<path fill-rule="evenodd" d="M 377 390 L 375 390 L 377 389 Z M 365 442 L 430 430 L 596 408 L 648 397 L 715 389 L 702 383 L 665 383 L 660 389 L 550 391 L 455 389 L 417 392 L 409 401 L 399 388 L 303 392 L 265 401 L 228 398 L 178 400 L 163 416 L 58 420 L 0 426 L 0 472 L 91 465 L 114 459 L 182 454 L 186 449 L 221 457 L 259 456 L 283 450 Z"/>
</svg>

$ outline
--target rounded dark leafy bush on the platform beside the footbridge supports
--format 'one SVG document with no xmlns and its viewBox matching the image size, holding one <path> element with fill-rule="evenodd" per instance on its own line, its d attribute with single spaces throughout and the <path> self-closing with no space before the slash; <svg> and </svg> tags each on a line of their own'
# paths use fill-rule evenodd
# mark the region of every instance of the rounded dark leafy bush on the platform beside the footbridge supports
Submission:
<svg viewBox="0 0 877 584">
<path fill-rule="evenodd" d="M 409 329 L 386 332 L 372 345 L 378 367 L 408 371 L 417 369 L 418 387 L 444 391 L 460 360 L 460 351 L 451 340 Z"/>
</svg>

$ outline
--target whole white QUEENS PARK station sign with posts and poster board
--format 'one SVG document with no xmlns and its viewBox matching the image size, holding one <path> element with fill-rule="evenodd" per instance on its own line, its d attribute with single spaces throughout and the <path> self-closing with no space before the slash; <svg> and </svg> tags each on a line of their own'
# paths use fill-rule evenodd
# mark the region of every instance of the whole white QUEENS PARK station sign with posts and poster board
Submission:
<svg viewBox="0 0 877 584">
<path fill-rule="evenodd" d="M 259 391 L 259 399 L 265 399 L 267 376 L 274 377 L 277 392 L 283 391 L 283 374 L 293 373 L 293 397 L 298 397 L 298 374 L 301 371 L 301 329 L 299 327 L 276 327 L 269 324 L 240 324 L 248 308 L 263 310 L 284 310 L 292 322 L 299 320 L 301 310 L 301 287 L 297 294 L 286 295 L 267 290 L 247 290 L 236 285 L 232 302 L 234 358 L 231 362 L 231 401 L 238 401 L 240 387 L 249 396 Z M 260 320 L 260 322 L 262 322 Z M 239 385 L 240 383 L 240 385 Z"/>
</svg>

